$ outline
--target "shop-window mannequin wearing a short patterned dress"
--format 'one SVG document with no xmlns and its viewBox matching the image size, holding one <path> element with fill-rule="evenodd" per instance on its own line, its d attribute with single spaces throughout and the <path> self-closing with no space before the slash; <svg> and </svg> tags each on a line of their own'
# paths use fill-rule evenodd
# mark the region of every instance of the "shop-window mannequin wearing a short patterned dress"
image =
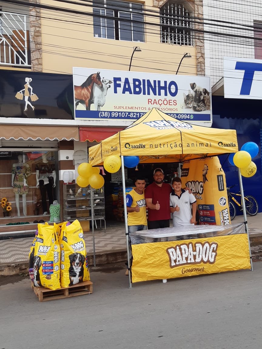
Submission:
<svg viewBox="0 0 262 349">
<path fill-rule="evenodd" d="M 27 163 L 23 163 L 23 155 L 18 155 L 18 163 L 12 165 L 12 187 L 15 193 L 15 205 L 17 209 L 17 216 L 20 216 L 20 201 L 19 196 L 22 195 L 23 201 L 23 215 L 27 215 L 27 193 L 29 192 L 29 186 L 27 178 L 31 174 L 30 166 Z"/>
</svg>

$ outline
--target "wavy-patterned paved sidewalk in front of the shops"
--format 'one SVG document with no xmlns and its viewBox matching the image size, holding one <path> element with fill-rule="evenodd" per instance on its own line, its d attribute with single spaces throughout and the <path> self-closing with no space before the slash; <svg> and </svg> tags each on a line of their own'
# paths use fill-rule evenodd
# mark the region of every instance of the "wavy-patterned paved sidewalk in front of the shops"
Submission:
<svg viewBox="0 0 262 349">
<path fill-rule="evenodd" d="M 170 221 L 171 222 L 171 221 Z M 236 216 L 232 224 L 243 222 L 243 216 Z M 255 217 L 247 217 L 250 239 L 262 237 L 262 213 Z M 9 263 L 20 263 L 28 261 L 28 254 L 33 237 L 0 240 L 0 265 Z M 86 250 L 88 254 L 93 253 L 92 231 L 85 233 Z M 256 244 L 257 245 L 257 244 Z M 262 247 L 261 245 L 259 245 Z M 259 247 L 259 249 L 261 249 Z M 255 247 L 254 247 L 255 248 Z M 109 226 L 106 232 L 95 229 L 95 252 L 106 254 L 112 252 L 126 251 L 126 237 L 124 223 Z M 256 251 L 257 252 L 257 251 Z"/>
</svg>

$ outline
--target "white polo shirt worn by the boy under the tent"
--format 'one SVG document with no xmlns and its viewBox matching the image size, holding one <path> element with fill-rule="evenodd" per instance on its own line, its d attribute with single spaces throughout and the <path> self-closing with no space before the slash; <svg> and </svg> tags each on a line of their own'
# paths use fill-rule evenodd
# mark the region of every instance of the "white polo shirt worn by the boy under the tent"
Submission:
<svg viewBox="0 0 262 349">
<path fill-rule="evenodd" d="M 193 194 L 189 194 L 188 190 L 182 189 L 180 196 L 176 195 L 174 190 L 170 194 L 170 207 L 180 208 L 179 211 L 173 212 L 173 225 L 194 225 L 190 223 L 192 218 L 190 204 L 196 202 Z"/>
</svg>

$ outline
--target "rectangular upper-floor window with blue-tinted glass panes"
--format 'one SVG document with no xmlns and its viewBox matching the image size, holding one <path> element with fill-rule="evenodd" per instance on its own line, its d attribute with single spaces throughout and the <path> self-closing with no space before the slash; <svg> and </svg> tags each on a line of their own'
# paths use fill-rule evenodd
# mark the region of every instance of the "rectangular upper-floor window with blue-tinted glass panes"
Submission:
<svg viewBox="0 0 262 349">
<path fill-rule="evenodd" d="M 143 5 L 126 1 L 93 0 L 94 37 L 144 41 Z"/>
</svg>

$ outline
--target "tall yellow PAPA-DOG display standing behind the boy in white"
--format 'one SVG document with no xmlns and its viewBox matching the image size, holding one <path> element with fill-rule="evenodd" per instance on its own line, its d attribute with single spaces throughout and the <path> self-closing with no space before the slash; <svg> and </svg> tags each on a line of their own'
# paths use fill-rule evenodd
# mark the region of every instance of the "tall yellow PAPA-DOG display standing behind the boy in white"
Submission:
<svg viewBox="0 0 262 349">
<path fill-rule="evenodd" d="M 230 224 L 226 177 L 217 156 L 185 161 L 181 180 L 195 195 L 199 224 Z"/>
</svg>

